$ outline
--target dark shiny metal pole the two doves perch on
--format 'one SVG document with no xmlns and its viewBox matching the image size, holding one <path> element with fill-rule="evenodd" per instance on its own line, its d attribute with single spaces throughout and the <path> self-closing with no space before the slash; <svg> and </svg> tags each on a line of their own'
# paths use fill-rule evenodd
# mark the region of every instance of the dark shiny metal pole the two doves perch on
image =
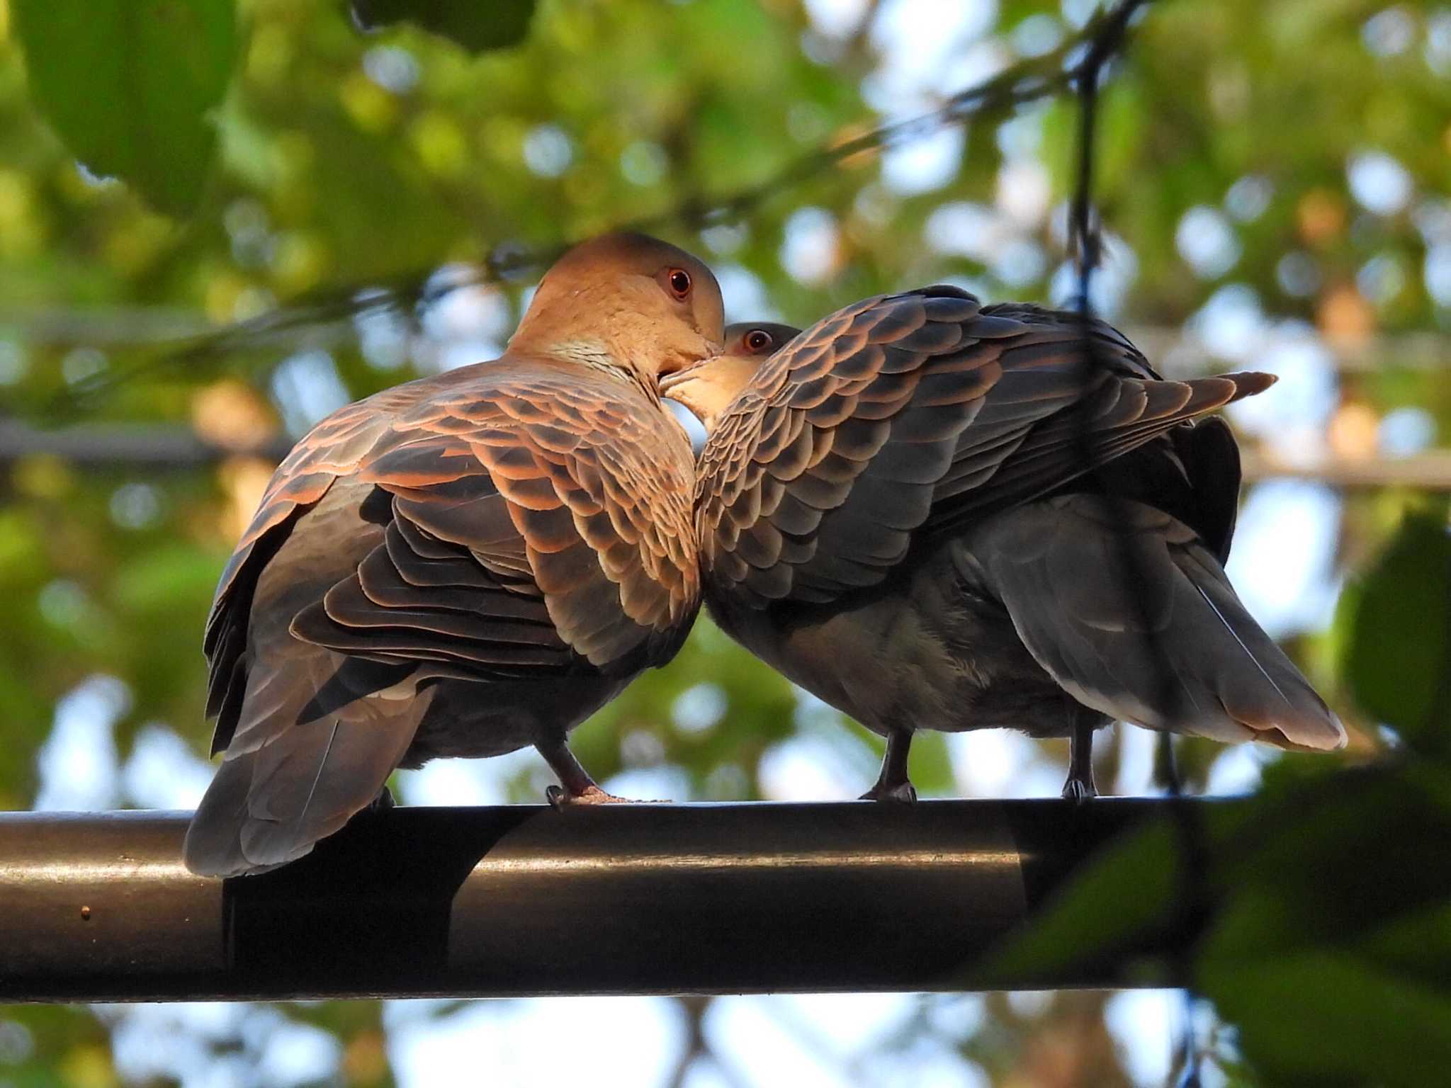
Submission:
<svg viewBox="0 0 1451 1088">
<path fill-rule="evenodd" d="M 3 814 L 0 1001 L 961 989 L 1171 804 L 1207 802 L 396 808 L 226 882 L 181 866 L 184 812 Z"/>
</svg>

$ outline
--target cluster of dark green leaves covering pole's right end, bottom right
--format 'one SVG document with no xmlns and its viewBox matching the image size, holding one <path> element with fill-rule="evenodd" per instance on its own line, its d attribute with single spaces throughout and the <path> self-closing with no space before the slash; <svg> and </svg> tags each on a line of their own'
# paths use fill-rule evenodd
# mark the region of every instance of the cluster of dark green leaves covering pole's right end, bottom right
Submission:
<svg viewBox="0 0 1451 1088">
<path fill-rule="evenodd" d="M 1425 1085 L 1451 1060 L 1451 766 L 1275 775 L 1113 847 L 995 970 L 1051 975 L 1214 907 L 1187 965 L 1268 1084 Z M 1130 902 L 1123 889 L 1135 888 Z"/>
</svg>

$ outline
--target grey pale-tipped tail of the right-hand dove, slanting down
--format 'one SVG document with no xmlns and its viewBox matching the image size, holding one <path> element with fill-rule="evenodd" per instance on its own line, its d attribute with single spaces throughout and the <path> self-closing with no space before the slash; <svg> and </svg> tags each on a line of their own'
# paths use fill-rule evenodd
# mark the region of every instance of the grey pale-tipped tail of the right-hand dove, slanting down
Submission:
<svg viewBox="0 0 1451 1088">
<path fill-rule="evenodd" d="M 1341 722 L 1245 611 L 1223 567 L 1152 506 L 1043 499 L 990 519 L 958 554 L 1037 663 L 1087 706 L 1214 740 L 1345 744 Z"/>
</svg>

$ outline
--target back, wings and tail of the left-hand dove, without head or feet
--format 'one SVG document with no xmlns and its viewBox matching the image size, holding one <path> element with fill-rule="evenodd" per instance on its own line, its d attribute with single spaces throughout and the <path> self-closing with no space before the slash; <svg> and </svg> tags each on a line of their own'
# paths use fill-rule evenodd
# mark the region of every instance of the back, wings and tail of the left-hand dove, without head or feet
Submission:
<svg viewBox="0 0 1451 1088">
<path fill-rule="evenodd" d="M 486 364 L 299 444 L 207 627 L 226 757 L 193 870 L 258 872 L 341 827 L 440 682 L 628 677 L 676 651 L 698 603 L 689 450 L 614 392 Z"/>
</svg>

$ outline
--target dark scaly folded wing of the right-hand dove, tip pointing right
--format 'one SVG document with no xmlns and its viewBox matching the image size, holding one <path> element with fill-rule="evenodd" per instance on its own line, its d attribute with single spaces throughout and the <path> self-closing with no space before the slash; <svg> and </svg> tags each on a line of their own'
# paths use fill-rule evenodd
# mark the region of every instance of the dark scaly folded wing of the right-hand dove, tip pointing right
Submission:
<svg viewBox="0 0 1451 1088">
<path fill-rule="evenodd" d="M 833 601 L 879 583 L 917 535 L 1271 382 L 1162 382 L 1103 322 L 956 287 L 866 299 L 778 351 L 721 416 L 696 480 L 707 577 L 757 608 Z"/>
</svg>

